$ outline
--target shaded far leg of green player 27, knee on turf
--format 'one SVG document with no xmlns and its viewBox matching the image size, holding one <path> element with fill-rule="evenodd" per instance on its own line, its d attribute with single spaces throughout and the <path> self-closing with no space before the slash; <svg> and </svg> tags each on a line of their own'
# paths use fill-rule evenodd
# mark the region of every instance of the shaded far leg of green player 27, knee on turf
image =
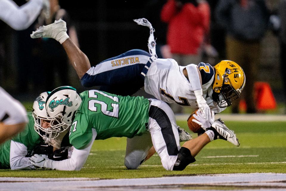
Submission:
<svg viewBox="0 0 286 191">
<path fill-rule="evenodd" d="M 145 161 L 148 150 L 152 145 L 150 133 L 144 133 L 141 136 L 127 138 L 126 154 L 124 159 L 125 167 L 128 169 L 137 169 Z"/>
</svg>

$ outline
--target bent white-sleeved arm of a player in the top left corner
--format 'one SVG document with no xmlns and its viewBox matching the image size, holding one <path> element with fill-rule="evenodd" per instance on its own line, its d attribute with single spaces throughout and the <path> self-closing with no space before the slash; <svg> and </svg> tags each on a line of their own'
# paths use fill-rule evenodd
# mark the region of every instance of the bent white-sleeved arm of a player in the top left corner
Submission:
<svg viewBox="0 0 286 191">
<path fill-rule="evenodd" d="M 14 1 L 1 0 L 0 19 L 15 30 L 24 30 L 37 19 L 42 7 L 42 0 L 30 0 L 21 7 Z"/>
</svg>

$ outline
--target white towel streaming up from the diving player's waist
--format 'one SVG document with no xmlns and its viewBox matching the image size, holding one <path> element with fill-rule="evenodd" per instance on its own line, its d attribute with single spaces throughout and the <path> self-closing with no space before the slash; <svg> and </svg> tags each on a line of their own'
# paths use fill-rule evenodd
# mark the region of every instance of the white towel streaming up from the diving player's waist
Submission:
<svg viewBox="0 0 286 191">
<path fill-rule="evenodd" d="M 139 25 L 146 26 L 146 27 L 150 28 L 150 36 L 149 36 L 149 39 L 148 39 L 149 53 L 151 54 L 151 56 L 154 56 L 155 59 L 158 58 L 158 56 L 156 55 L 156 42 L 155 42 L 155 39 L 154 39 L 155 29 L 153 29 L 152 24 L 145 18 L 133 19 L 133 21 L 135 21 Z M 154 60 L 154 58 L 153 58 L 153 60 Z"/>
</svg>

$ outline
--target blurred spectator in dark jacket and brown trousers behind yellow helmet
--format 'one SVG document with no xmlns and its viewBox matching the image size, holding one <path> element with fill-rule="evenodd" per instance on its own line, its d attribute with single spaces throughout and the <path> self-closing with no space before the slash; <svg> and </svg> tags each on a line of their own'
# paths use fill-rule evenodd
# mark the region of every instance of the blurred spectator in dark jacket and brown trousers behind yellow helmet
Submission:
<svg viewBox="0 0 286 191">
<path fill-rule="evenodd" d="M 260 62 L 260 40 L 269 20 L 264 0 L 220 0 L 216 9 L 217 22 L 226 29 L 226 58 L 237 62 L 246 77 L 242 96 L 247 104 L 247 113 L 256 113 L 254 82 Z M 239 112 L 239 102 L 232 112 Z"/>
</svg>

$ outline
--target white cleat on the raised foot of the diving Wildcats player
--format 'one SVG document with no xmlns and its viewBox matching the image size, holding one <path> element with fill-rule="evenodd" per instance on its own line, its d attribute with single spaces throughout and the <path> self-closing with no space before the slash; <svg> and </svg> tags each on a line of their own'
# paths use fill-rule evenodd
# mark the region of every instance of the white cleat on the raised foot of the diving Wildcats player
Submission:
<svg viewBox="0 0 286 191">
<path fill-rule="evenodd" d="M 31 38 L 54 38 L 62 43 L 62 39 L 65 38 L 64 40 L 66 40 L 66 37 L 68 38 L 66 31 L 66 22 L 59 19 L 52 24 L 39 27 L 30 36 Z"/>
</svg>

